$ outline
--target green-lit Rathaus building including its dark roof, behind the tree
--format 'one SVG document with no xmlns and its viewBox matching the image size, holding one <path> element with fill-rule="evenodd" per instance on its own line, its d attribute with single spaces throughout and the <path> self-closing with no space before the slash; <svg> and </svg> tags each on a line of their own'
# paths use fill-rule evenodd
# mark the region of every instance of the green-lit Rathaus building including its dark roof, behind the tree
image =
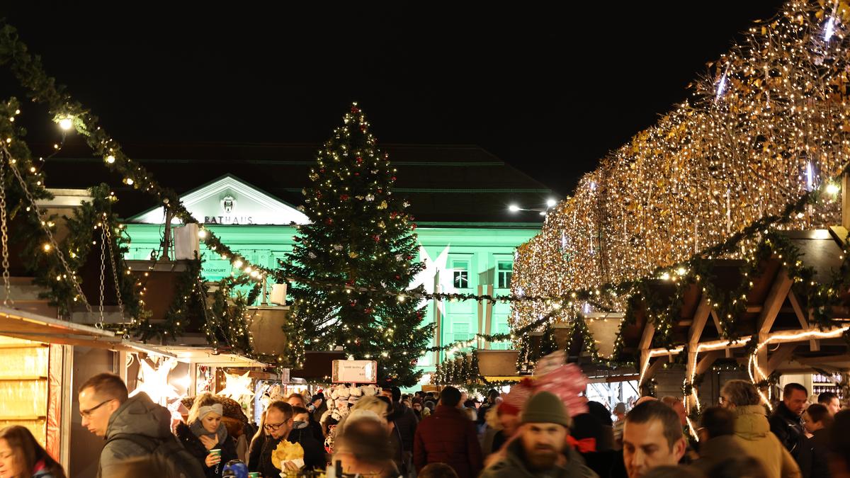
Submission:
<svg viewBox="0 0 850 478">
<path fill-rule="evenodd" d="M 536 235 L 542 219 L 536 212 L 511 213 L 508 206 L 541 208 L 552 192 L 477 146 L 384 148 L 398 168 L 394 191 L 411 202 L 418 259 L 426 265 L 411 287 L 422 284 L 428 292 L 507 295 L 515 248 Z M 186 208 L 206 228 L 255 264 L 277 268 L 292 250 L 296 234 L 292 223 L 308 220 L 297 205 L 302 188 L 309 184 L 314 146 L 127 145 L 125 149 L 162 184 L 178 191 Z M 77 174 L 68 174 L 71 168 Z M 62 187 L 80 187 L 73 178 L 81 169 L 90 172 L 88 185 L 103 174 L 103 168 L 88 158 L 57 157 L 48 163 L 48 178 L 64 179 Z M 163 209 L 133 188 L 116 187 L 115 191 L 116 209 L 127 218 L 132 239 L 127 259 L 161 257 Z M 232 272 L 227 260 L 202 245 L 201 256 L 207 280 Z M 427 307 L 426 320 L 437 324 L 434 345 L 473 339 L 479 332 L 508 330 L 509 304 L 431 300 Z M 479 346 L 505 349 L 510 345 Z M 429 354 L 419 364 L 428 373 L 442 358 Z"/>
</svg>

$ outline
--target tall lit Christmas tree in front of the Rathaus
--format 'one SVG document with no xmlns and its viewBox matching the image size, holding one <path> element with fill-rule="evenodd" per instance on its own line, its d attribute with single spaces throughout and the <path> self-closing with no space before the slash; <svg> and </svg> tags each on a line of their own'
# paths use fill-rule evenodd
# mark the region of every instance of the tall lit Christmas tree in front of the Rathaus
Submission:
<svg viewBox="0 0 850 478">
<path fill-rule="evenodd" d="M 409 204 L 393 194 L 395 169 L 356 103 L 320 148 L 309 179 L 303 211 L 311 222 L 298 226 L 280 262 L 281 276 L 295 278 L 285 327 L 292 366 L 303 365 L 305 348 L 342 346 L 355 359 L 376 360 L 380 382 L 416 384 L 416 361 L 433 335 L 414 296 L 422 286 L 405 290 L 424 268 L 414 262 L 416 225 Z"/>
</svg>

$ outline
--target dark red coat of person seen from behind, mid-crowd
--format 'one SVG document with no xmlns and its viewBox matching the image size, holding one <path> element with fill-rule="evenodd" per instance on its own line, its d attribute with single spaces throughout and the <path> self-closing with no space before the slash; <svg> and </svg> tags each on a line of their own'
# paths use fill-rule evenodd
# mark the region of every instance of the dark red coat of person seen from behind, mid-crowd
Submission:
<svg viewBox="0 0 850 478">
<path fill-rule="evenodd" d="M 438 405 L 416 428 L 413 464 L 419 471 L 429 463 L 445 463 L 458 478 L 475 478 L 483 467 L 475 422 L 455 407 Z"/>
</svg>

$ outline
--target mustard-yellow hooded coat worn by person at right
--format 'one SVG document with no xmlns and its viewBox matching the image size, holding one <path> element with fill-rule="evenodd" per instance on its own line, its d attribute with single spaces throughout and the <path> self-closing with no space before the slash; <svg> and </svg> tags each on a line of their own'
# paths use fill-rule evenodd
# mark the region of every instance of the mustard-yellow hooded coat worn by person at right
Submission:
<svg viewBox="0 0 850 478">
<path fill-rule="evenodd" d="M 734 408 L 735 436 L 746 454 L 764 466 L 768 478 L 800 478 L 800 467 L 797 466 L 791 453 L 782 446 L 782 442 L 770 431 L 768 418 L 764 407 L 750 405 Z"/>
</svg>

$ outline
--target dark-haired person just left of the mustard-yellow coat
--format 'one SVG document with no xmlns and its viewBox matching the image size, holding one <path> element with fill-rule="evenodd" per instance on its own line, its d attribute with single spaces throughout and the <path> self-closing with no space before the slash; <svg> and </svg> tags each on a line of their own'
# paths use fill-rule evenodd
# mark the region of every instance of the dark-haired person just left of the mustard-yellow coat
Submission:
<svg viewBox="0 0 850 478">
<path fill-rule="evenodd" d="M 700 458 L 692 465 L 706 475 L 729 458 L 747 456 L 735 437 L 735 415 L 723 407 L 708 407 L 702 411 L 697 434 L 700 435 Z"/>
</svg>

